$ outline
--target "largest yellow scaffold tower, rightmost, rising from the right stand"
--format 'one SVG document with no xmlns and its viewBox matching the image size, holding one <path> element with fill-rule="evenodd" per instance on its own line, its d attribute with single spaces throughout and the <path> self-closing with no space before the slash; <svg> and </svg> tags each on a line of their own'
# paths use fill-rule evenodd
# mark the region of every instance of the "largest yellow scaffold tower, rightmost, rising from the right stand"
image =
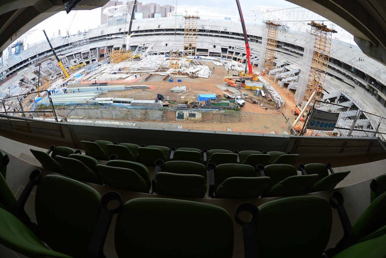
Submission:
<svg viewBox="0 0 386 258">
<path fill-rule="evenodd" d="M 315 90 L 317 91 L 316 97 L 320 98 L 322 95 L 327 69 L 329 67 L 331 39 L 333 33 L 337 32 L 327 28 L 323 23 L 320 24 L 312 21 L 308 23 L 308 25 L 311 25 L 311 37 L 314 37 L 315 43 L 310 75 L 304 95 L 307 100 Z"/>
</svg>

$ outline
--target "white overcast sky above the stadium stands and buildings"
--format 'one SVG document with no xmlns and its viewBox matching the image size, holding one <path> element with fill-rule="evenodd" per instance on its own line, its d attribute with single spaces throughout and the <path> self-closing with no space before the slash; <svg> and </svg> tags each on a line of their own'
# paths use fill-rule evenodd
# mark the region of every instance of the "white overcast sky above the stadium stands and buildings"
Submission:
<svg viewBox="0 0 386 258">
<path fill-rule="evenodd" d="M 125 1 L 123 0 L 123 2 Z M 140 0 L 140 2 L 156 2 L 159 4 L 172 4 L 174 6 L 207 6 L 237 10 L 235 0 Z M 297 6 L 285 0 L 240 0 L 240 3 L 242 11 L 245 13 L 252 13 L 249 9 L 254 5 L 279 6 L 283 8 Z M 54 35 L 58 35 L 58 30 L 60 30 L 62 35 L 65 35 L 67 30 L 70 34 L 75 34 L 78 30 L 89 30 L 97 28 L 98 25 L 100 25 L 100 8 L 87 11 L 73 10 L 69 14 L 62 11 L 35 26 L 33 28 L 35 32 L 28 36 L 27 43 L 32 44 L 44 40 L 43 29 L 46 30 L 48 37 L 51 38 Z"/>
</svg>

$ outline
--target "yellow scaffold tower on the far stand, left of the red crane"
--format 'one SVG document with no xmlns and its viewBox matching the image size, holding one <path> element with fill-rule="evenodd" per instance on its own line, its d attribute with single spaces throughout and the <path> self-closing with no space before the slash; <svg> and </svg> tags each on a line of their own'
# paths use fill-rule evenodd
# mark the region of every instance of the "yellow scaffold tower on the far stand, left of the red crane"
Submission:
<svg viewBox="0 0 386 258">
<path fill-rule="evenodd" d="M 184 55 L 195 55 L 197 51 L 198 19 L 197 15 L 185 15 Z"/>
</svg>

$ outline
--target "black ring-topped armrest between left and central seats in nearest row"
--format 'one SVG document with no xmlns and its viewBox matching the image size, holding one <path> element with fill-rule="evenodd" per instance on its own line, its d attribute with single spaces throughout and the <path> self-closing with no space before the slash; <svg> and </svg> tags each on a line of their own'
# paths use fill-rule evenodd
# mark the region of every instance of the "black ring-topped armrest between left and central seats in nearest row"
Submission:
<svg viewBox="0 0 386 258">
<path fill-rule="evenodd" d="M 105 258 L 103 247 L 111 219 L 114 214 L 120 212 L 123 208 L 122 196 L 117 192 L 105 193 L 100 201 L 102 203 L 102 211 L 100 212 L 97 226 L 90 241 L 89 258 Z M 109 209 L 107 206 L 111 201 L 118 201 L 118 206 Z"/>
</svg>

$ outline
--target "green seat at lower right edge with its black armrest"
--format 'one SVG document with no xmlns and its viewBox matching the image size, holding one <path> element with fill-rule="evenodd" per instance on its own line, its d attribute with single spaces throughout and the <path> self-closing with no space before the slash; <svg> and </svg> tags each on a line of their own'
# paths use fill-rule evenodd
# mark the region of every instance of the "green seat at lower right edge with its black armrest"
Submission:
<svg viewBox="0 0 386 258">
<path fill-rule="evenodd" d="M 386 233 L 386 193 L 381 194 L 375 199 L 352 226 L 344 209 L 344 200 L 341 193 L 334 192 L 331 195 L 330 203 L 331 206 L 338 210 L 344 235 L 335 248 L 326 251 L 329 257 L 358 242 Z"/>
</svg>

